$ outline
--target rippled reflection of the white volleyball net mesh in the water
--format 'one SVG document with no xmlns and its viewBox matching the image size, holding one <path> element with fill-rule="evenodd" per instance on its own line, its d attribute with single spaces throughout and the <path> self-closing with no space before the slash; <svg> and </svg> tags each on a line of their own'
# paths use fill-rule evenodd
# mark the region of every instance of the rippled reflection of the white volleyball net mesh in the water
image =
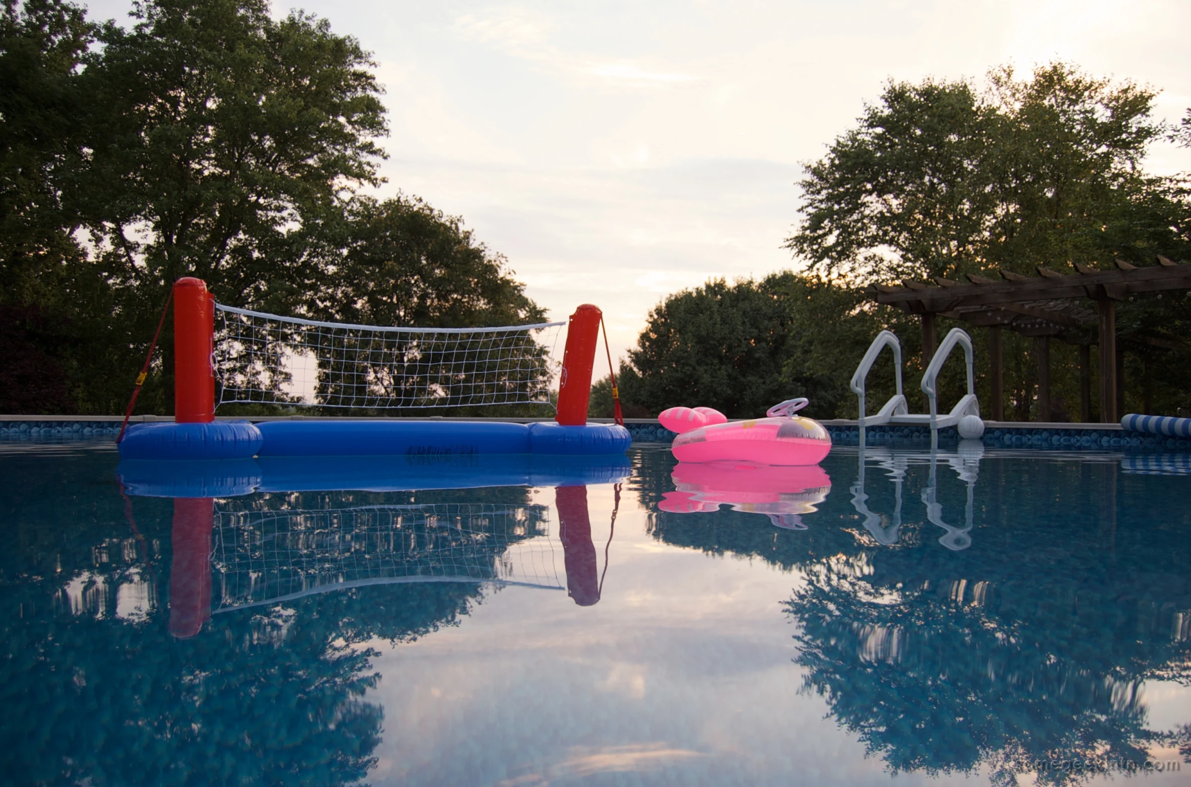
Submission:
<svg viewBox="0 0 1191 787">
<path fill-rule="evenodd" d="M 230 511 L 217 504 L 211 562 L 219 608 L 397 582 L 562 589 L 562 549 L 548 516 L 538 505 Z"/>
</svg>

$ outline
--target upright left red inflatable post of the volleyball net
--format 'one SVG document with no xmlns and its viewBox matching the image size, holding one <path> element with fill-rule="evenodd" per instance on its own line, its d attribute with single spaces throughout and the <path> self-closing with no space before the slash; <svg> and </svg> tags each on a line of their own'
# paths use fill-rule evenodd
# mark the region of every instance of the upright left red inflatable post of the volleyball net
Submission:
<svg viewBox="0 0 1191 787">
<path fill-rule="evenodd" d="M 201 279 L 174 285 L 174 420 L 206 424 L 216 419 L 214 300 Z"/>
</svg>

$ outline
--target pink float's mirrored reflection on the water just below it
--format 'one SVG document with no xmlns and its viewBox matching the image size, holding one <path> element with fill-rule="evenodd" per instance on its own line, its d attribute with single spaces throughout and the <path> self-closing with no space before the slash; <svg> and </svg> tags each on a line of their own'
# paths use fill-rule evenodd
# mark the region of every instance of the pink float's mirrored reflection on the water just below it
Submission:
<svg viewBox="0 0 1191 787">
<path fill-rule="evenodd" d="M 802 514 L 816 511 L 831 491 L 831 477 L 817 464 L 755 462 L 679 462 L 671 474 L 676 492 L 657 504 L 671 513 L 732 511 L 761 513 L 778 527 L 806 530 Z"/>
</svg>

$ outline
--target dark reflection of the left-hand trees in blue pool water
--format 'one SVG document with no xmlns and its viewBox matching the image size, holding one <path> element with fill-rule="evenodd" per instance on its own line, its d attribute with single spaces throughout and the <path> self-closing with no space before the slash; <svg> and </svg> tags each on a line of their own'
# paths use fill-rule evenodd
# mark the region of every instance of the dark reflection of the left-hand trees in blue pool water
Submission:
<svg viewBox="0 0 1191 787">
<path fill-rule="evenodd" d="M 44 466 L 0 457 L 12 473 L 0 492 L 10 537 L 0 557 L 0 773 L 19 783 L 96 786 L 363 779 L 384 723 L 364 697 L 379 681 L 369 643 L 456 625 L 486 591 L 357 587 L 218 612 L 179 638 L 158 601 L 172 585 L 173 501 L 133 501 L 138 539 L 110 468 L 102 456 Z M 64 500 L 63 489 L 77 496 Z M 393 496 L 276 495 L 255 505 Z M 400 496 L 525 502 L 523 489 Z"/>
</svg>

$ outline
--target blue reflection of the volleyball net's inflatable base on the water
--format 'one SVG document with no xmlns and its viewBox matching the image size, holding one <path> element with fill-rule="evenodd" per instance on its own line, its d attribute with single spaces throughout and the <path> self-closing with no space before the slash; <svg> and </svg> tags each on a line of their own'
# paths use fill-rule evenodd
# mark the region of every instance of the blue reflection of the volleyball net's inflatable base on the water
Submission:
<svg viewBox="0 0 1191 787">
<path fill-rule="evenodd" d="M 604 456 L 335 456 L 223 462 L 125 460 L 125 491 L 152 498 L 230 498 L 254 492 L 398 492 L 479 487 L 616 483 L 629 457 Z"/>
</svg>

